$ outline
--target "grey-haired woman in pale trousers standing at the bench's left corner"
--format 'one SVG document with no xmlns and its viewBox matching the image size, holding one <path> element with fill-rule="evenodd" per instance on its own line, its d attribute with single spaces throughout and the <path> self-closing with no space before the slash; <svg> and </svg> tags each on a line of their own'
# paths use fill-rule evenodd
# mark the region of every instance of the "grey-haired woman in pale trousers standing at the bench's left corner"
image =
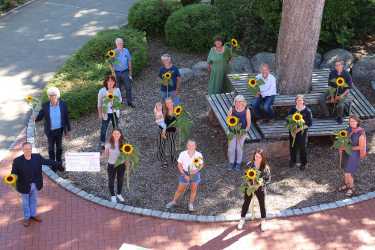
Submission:
<svg viewBox="0 0 375 250">
<path fill-rule="evenodd" d="M 243 146 L 246 140 L 247 131 L 251 126 L 251 113 L 247 107 L 247 102 L 242 95 L 238 95 L 234 98 L 234 106 L 228 111 L 228 116 L 235 116 L 241 123 L 241 128 L 246 130 L 246 133 L 242 136 L 234 136 L 228 143 L 228 169 L 241 171 Z"/>
</svg>

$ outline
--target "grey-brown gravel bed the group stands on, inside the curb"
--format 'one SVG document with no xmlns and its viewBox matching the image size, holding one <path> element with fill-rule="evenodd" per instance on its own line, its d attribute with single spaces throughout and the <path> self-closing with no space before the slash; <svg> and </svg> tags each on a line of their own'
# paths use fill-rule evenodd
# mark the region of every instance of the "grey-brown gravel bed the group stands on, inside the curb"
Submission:
<svg viewBox="0 0 375 250">
<path fill-rule="evenodd" d="M 190 55 L 165 47 L 159 40 L 150 41 L 150 65 L 135 79 L 134 95 L 136 109 L 126 108 L 122 113 L 121 126 L 130 142 L 142 152 L 138 172 L 131 177 L 131 188 L 124 185 L 125 204 L 165 211 L 177 187 L 178 171 L 175 167 L 162 169 L 155 158 L 158 129 L 154 123 L 153 107 L 159 100 L 159 86 L 155 79 L 159 68 L 159 57 L 168 52 L 178 67 L 191 67 L 204 60 L 206 55 Z M 240 173 L 225 170 L 226 139 L 219 127 L 213 127 L 207 120 L 207 77 L 193 79 L 183 84 L 182 100 L 188 111 L 194 115 L 193 138 L 196 139 L 205 157 L 207 167 L 202 170 L 202 183 L 196 202 L 196 214 L 219 215 L 239 213 L 242 194 L 239 191 Z M 100 121 L 96 114 L 90 114 L 72 124 L 70 139 L 64 140 L 65 150 L 97 151 Z M 46 138 L 41 136 L 42 126 L 37 126 L 38 145 L 47 155 Z M 375 136 L 368 134 L 369 148 L 375 149 Z M 340 185 L 342 171 L 337 167 L 336 151 L 330 149 L 328 138 L 314 140 L 309 145 L 310 165 L 305 171 L 290 169 L 288 160 L 270 157 L 272 184 L 268 189 L 269 211 L 286 208 L 301 208 L 323 202 L 345 198 L 336 192 Z M 375 190 L 375 153 L 362 162 L 356 174 L 357 193 Z M 102 162 L 98 173 L 60 173 L 75 185 L 97 196 L 109 199 L 106 165 Z M 184 195 L 174 212 L 187 212 L 188 195 Z"/>
</svg>

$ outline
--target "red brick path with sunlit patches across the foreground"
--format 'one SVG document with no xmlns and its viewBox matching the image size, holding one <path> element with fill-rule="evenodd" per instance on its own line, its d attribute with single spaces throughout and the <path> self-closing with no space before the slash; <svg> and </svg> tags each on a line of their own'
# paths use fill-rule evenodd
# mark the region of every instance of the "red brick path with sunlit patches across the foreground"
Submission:
<svg viewBox="0 0 375 250">
<path fill-rule="evenodd" d="M 0 164 L 10 171 L 15 150 Z M 0 249 L 375 249 L 375 200 L 307 216 L 273 219 L 266 232 L 248 223 L 189 223 L 125 214 L 80 199 L 45 178 L 42 224 L 24 228 L 19 196 L 0 185 Z"/>
</svg>

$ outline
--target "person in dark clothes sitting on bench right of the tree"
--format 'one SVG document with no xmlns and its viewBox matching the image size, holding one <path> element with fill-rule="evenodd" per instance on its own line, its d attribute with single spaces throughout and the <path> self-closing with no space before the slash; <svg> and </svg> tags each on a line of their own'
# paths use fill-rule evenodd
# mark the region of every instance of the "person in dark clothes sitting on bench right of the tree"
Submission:
<svg viewBox="0 0 375 250">
<path fill-rule="evenodd" d="M 344 78 L 347 87 L 337 87 L 336 79 L 338 77 Z M 335 104 L 337 110 L 336 121 L 338 124 L 342 124 L 344 117 L 345 100 L 350 93 L 350 89 L 353 87 L 353 80 L 349 72 L 344 70 L 344 61 L 337 60 L 335 63 L 335 69 L 329 73 L 328 86 L 336 90 L 337 95 L 331 96 L 327 90 L 320 96 L 320 108 L 325 117 L 329 116 L 328 103 Z"/>
</svg>

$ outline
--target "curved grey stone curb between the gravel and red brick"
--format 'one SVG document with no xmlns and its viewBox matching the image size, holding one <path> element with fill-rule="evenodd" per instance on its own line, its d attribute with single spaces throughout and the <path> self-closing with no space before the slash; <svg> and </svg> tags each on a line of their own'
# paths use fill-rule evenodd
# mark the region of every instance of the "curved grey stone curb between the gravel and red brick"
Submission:
<svg viewBox="0 0 375 250">
<path fill-rule="evenodd" d="M 33 146 L 35 147 L 34 132 L 35 132 L 35 123 L 32 119 L 32 116 L 30 116 L 27 129 L 26 129 L 27 141 L 32 143 Z M 151 216 L 151 217 L 156 217 L 159 219 L 191 221 L 191 222 L 206 222 L 206 223 L 207 222 L 232 222 L 232 221 L 237 221 L 240 219 L 239 214 L 217 215 L 217 216 L 178 214 L 178 213 L 170 213 L 170 212 L 164 212 L 164 211 L 147 209 L 147 208 L 132 207 L 132 206 L 128 206 L 128 205 L 120 204 L 120 203 L 113 203 L 113 202 L 110 202 L 109 200 L 105 200 L 93 194 L 89 194 L 86 191 L 76 187 L 74 184 L 71 183 L 70 180 L 61 178 L 47 166 L 43 166 L 43 173 L 47 175 L 56 184 L 58 184 L 60 187 L 64 188 L 65 190 L 77 196 L 80 196 L 81 198 L 85 200 L 94 202 L 100 206 L 113 208 L 113 209 L 127 212 L 130 214 Z M 291 216 L 312 214 L 316 212 L 323 212 L 323 211 L 327 211 L 330 209 L 353 205 L 353 204 L 366 201 L 366 200 L 370 200 L 370 199 L 374 199 L 374 198 L 375 198 L 375 192 L 368 192 L 366 194 L 361 194 L 359 196 L 354 196 L 354 197 L 347 198 L 344 200 L 334 201 L 330 203 L 323 203 L 323 204 L 319 204 L 319 205 L 315 205 L 311 207 L 285 209 L 281 211 L 271 211 L 268 213 L 267 218 L 268 219 L 285 218 L 285 217 L 291 217 Z M 251 219 L 251 216 L 247 216 L 246 219 L 248 220 Z M 259 216 L 256 216 L 256 219 L 259 219 Z"/>
</svg>

